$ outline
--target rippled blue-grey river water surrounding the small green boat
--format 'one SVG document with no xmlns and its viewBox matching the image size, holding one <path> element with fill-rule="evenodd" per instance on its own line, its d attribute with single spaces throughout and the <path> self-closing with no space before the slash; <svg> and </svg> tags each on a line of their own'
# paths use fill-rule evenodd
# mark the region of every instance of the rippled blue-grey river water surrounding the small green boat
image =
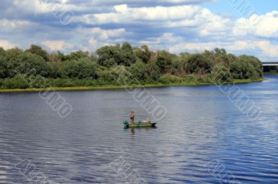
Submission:
<svg viewBox="0 0 278 184">
<path fill-rule="evenodd" d="M 28 183 L 24 159 L 49 183 L 124 183 L 110 166 L 121 157 L 148 183 L 278 183 L 278 76 L 266 77 L 238 85 L 262 110 L 255 122 L 216 86 L 149 89 L 167 108 L 156 129 L 123 129 L 130 110 L 151 117 L 122 89 L 59 92 L 73 107 L 64 119 L 38 93 L 2 93 L 0 183 Z"/>
</svg>

